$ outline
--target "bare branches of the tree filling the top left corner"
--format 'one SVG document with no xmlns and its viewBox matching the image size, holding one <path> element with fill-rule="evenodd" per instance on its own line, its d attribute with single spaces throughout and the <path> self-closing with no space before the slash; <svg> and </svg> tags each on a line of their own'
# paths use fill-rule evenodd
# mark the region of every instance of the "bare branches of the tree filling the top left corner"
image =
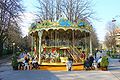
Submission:
<svg viewBox="0 0 120 80">
<path fill-rule="evenodd" d="M 14 24 L 18 26 L 19 14 L 23 11 L 20 0 L 0 0 L 0 52 L 8 38 L 8 31 Z"/>
</svg>

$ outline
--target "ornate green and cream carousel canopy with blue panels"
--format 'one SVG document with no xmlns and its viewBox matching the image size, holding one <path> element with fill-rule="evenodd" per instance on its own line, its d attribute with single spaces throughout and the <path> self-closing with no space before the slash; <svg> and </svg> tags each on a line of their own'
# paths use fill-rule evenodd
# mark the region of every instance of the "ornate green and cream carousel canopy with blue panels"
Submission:
<svg viewBox="0 0 120 80">
<path fill-rule="evenodd" d="M 51 22 L 50 20 L 44 20 L 42 22 L 32 23 L 30 26 L 29 32 L 32 33 L 32 32 L 39 31 L 39 30 L 48 31 L 50 29 L 53 29 L 53 30 L 71 29 L 71 30 L 80 30 L 80 31 L 89 32 L 91 28 L 92 26 L 84 20 L 80 20 L 77 24 L 73 24 L 69 20 L 61 18 L 57 22 Z"/>
</svg>

